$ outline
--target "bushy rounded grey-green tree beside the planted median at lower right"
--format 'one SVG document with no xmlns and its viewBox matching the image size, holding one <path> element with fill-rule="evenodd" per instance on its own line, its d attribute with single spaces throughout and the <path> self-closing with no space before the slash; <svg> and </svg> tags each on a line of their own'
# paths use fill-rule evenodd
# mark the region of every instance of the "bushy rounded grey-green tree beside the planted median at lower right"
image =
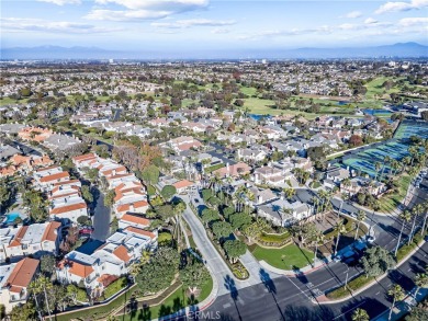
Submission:
<svg viewBox="0 0 428 321">
<path fill-rule="evenodd" d="M 379 276 L 395 266 L 394 256 L 381 247 L 365 250 L 361 263 L 367 276 Z"/>
</svg>

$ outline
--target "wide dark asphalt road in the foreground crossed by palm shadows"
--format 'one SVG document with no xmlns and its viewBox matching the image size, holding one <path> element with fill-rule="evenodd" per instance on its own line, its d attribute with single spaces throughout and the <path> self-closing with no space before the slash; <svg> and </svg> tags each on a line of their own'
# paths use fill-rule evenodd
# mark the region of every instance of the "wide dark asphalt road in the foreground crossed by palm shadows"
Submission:
<svg viewBox="0 0 428 321">
<path fill-rule="evenodd" d="M 221 296 L 206 312 L 209 316 L 215 316 L 215 312 L 219 311 L 223 320 L 351 320 L 352 311 L 360 307 L 374 318 L 391 307 L 387 289 L 393 283 L 410 291 L 414 287 L 412 278 L 424 271 L 427 261 L 428 244 L 424 243 L 415 255 L 392 271 L 387 277 L 341 303 L 318 303 L 314 300 L 318 293 L 312 283 L 304 284 L 296 278 L 282 276 Z M 322 275 L 325 274 L 326 272 Z"/>
</svg>

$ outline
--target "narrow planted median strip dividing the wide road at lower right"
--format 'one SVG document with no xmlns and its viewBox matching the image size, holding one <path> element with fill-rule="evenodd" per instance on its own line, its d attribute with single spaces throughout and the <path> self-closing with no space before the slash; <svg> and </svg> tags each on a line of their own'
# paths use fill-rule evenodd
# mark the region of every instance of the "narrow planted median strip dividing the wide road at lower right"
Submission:
<svg viewBox="0 0 428 321">
<path fill-rule="evenodd" d="M 420 233 L 417 233 L 410 244 L 405 244 L 397 251 L 396 260 L 398 267 L 401 264 L 403 264 L 405 261 L 408 260 L 409 256 L 414 254 L 415 251 L 417 251 L 417 248 L 420 247 L 424 242 L 424 236 L 420 236 Z M 348 282 L 347 286 L 339 287 L 337 289 L 334 289 L 333 291 L 328 293 L 326 297 L 330 299 L 331 302 L 336 300 L 347 300 L 351 298 L 352 295 L 356 295 L 360 291 L 363 291 L 367 287 L 372 286 L 378 280 L 384 278 L 387 276 L 388 272 L 378 276 L 367 276 L 364 273 L 360 274 L 352 280 Z"/>
</svg>

